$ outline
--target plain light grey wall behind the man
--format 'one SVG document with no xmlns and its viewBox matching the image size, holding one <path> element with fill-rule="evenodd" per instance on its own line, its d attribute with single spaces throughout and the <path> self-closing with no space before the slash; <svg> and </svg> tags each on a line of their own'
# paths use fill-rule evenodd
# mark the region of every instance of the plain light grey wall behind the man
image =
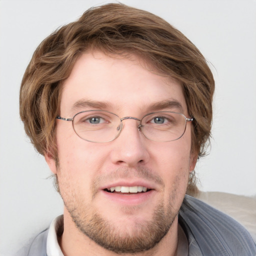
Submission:
<svg viewBox="0 0 256 256">
<path fill-rule="evenodd" d="M 25 136 L 19 85 L 39 42 L 98 0 L 0 0 L 0 253 L 11 254 L 62 212 L 50 171 Z M 204 191 L 256 194 L 256 1 L 121 0 L 180 29 L 216 80 L 210 154 L 197 166 Z"/>
</svg>

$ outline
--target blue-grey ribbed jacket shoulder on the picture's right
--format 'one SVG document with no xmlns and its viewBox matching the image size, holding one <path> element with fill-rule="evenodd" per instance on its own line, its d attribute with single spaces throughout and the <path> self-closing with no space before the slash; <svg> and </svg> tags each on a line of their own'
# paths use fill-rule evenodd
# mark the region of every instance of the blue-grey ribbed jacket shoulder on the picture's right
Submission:
<svg viewBox="0 0 256 256">
<path fill-rule="evenodd" d="M 185 196 L 179 221 L 203 255 L 256 255 L 256 245 L 242 225 L 194 197 Z"/>
</svg>

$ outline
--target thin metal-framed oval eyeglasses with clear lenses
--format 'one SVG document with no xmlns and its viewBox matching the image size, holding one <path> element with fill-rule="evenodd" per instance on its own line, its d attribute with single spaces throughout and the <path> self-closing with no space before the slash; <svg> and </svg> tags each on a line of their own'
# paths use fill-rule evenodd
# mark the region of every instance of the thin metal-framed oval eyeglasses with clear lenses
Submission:
<svg viewBox="0 0 256 256">
<path fill-rule="evenodd" d="M 179 139 L 185 132 L 186 122 L 193 118 L 170 111 L 153 112 L 141 119 L 118 115 L 105 110 L 87 110 L 76 113 L 73 118 L 57 116 L 57 119 L 72 121 L 75 133 L 90 142 L 109 142 L 119 136 L 123 120 L 134 119 L 139 122 L 138 130 L 153 141 L 167 142 Z"/>
</svg>

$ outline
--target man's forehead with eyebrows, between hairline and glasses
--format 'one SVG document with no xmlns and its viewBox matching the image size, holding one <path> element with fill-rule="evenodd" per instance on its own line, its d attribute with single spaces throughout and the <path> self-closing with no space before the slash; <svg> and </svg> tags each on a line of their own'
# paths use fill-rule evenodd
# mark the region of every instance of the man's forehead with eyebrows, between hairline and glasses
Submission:
<svg viewBox="0 0 256 256">
<path fill-rule="evenodd" d="M 179 82 L 149 70 L 146 64 L 131 54 L 123 57 L 100 51 L 83 53 L 63 84 L 61 114 L 70 116 L 87 108 L 100 108 L 131 115 L 131 111 L 166 107 L 186 114 Z"/>
</svg>

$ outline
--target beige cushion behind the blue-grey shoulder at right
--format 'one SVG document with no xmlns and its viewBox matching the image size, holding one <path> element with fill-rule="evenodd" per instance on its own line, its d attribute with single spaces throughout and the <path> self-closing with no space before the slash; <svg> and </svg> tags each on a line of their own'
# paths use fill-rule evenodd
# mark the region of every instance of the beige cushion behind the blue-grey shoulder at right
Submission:
<svg viewBox="0 0 256 256">
<path fill-rule="evenodd" d="M 237 220 L 250 232 L 256 242 L 256 195 L 200 191 L 196 197 Z"/>
</svg>

